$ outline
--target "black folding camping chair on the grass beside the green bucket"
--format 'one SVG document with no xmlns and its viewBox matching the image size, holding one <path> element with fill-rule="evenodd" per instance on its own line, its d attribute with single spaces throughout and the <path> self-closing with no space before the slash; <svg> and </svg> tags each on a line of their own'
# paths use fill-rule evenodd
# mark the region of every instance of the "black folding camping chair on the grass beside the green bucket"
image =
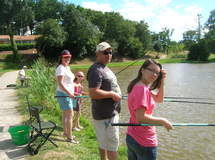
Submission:
<svg viewBox="0 0 215 160">
<path fill-rule="evenodd" d="M 44 122 L 40 120 L 39 109 L 36 107 L 29 107 L 30 114 L 36 121 L 31 123 L 33 132 L 31 133 L 30 142 L 27 149 L 31 155 L 37 154 L 39 149 L 48 140 L 54 146 L 58 147 L 51 139 L 50 136 L 56 128 L 56 124 L 52 121 Z"/>
</svg>

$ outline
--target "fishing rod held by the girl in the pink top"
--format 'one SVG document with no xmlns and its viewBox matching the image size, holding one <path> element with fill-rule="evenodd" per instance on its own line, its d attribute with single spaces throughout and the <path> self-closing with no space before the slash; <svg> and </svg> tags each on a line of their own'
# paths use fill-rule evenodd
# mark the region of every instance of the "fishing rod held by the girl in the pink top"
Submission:
<svg viewBox="0 0 215 160">
<path fill-rule="evenodd" d="M 144 123 L 111 123 L 111 126 L 162 126 L 161 124 L 144 124 Z M 213 123 L 172 123 L 172 126 L 191 126 L 191 127 L 209 127 L 215 126 Z"/>
</svg>

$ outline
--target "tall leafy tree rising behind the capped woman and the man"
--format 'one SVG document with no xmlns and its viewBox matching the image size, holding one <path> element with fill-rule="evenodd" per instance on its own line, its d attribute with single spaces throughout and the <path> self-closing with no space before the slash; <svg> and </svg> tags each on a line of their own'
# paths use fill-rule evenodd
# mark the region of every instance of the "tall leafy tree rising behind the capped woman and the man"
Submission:
<svg viewBox="0 0 215 160">
<path fill-rule="evenodd" d="M 76 57 L 92 55 L 99 42 L 101 32 L 74 6 L 67 5 L 62 15 L 62 23 L 68 37 L 65 43 Z"/>
</svg>

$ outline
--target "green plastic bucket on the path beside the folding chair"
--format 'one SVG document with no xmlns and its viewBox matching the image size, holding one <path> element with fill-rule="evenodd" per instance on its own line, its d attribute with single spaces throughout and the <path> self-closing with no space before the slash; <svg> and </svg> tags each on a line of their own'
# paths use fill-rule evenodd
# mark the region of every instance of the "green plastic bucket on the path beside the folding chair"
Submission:
<svg viewBox="0 0 215 160">
<path fill-rule="evenodd" d="M 31 127 L 21 125 L 9 128 L 8 132 L 12 137 L 12 142 L 16 145 L 27 144 L 30 139 Z"/>
</svg>

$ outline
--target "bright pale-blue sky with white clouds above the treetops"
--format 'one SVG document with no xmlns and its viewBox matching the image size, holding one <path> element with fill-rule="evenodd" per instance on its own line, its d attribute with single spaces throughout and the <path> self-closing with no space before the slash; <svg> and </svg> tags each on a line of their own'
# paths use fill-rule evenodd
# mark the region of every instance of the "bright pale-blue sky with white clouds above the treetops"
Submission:
<svg viewBox="0 0 215 160">
<path fill-rule="evenodd" d="M 210 12 L 215 9 L 214 0 L 67 0 L 102 12 L 119 12 L 125 19 L 141 21 L 152 32 L 163 28 L 173 29 L 172 40 L 180 41 L 183 33 L 198 28 L 198 14 L 203 26 Z"/>
</svg>

